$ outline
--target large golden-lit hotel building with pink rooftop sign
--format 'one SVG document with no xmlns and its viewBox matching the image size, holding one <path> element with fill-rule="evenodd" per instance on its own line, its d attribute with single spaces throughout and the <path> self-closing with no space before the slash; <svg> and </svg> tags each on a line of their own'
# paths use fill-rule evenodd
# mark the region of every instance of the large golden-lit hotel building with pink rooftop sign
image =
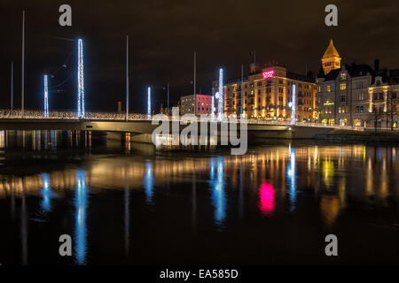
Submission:
<svg viewBox="0 0 399 283">
<path fill-rule="evenodd" d="M 313 75 L 288 72 L 284 65 L 270 65 L 260 72 L 251 65 L 251 72 L 242 83 L 241 78 L 227 80 L 223 85 L 223 110 L 226 116 L 246 114 L 249 119 L 290 120 L 293 84 L 296 85 L 296 117 L 298 121 L 315 121 L 316 83 Z M 212 93 L 218 92 L 218 81 Z"/>
</svg>

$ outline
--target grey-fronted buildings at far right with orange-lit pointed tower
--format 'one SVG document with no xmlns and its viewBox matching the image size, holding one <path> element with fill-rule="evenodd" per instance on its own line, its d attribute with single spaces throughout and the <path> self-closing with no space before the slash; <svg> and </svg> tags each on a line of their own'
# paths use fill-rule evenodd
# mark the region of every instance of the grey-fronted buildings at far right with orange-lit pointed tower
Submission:
<svg viewBox="0 0 399 283">
<path fill-rule="evenodd" d="M 327 64 L 328 59 L 333 59 L 333 67 Z M 396 126 L 397 73 L 379 70 L 378 60 L 374 69 L 369 65 L 340 65 L 331 41 L 317 76 L 319 121 L 325 126 Z"/>
</svg>

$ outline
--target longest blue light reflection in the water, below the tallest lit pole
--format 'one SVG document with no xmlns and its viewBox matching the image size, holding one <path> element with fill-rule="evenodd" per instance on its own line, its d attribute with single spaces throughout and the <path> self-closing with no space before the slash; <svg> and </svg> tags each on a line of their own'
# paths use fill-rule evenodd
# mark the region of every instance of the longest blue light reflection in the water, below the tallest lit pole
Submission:
<svg viewBox="0 0 399 283">
<path fill-rule="evenodd" d="M 86 210 L 88 207 L 88 188 L 86 186 L 86 172 L 80 169 L 76 172 L 75 205 L 75 247 L 74 255 L 77 264 L 86 263 Z"/>
</svg>

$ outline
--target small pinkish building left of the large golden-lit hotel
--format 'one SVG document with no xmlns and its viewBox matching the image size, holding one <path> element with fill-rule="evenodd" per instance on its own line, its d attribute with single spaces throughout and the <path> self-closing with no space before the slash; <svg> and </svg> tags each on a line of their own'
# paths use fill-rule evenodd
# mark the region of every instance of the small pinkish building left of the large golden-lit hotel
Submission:
<svg viewBox="0 0 399 283">
<path fill-rule="evenodd" d="M 180 97 L 180 114 L 192 113 L 195 115 L 210 114 L 212 111 L 212 96 L 196 95 L 197 102 L 194 102 L 194 95 Z M 197 108 L 195 109 L 195 105 Z M 194 113 L 195 111 L 195 113 Z"/>
</svg>

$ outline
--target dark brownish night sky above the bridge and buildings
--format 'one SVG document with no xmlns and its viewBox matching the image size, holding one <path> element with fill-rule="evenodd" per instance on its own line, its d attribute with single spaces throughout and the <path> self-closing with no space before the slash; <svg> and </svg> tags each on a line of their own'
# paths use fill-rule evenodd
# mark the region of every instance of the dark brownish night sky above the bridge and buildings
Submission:
<svg viewBox="0 0 399 283">
<path fill-rule="evenodd" d="M 52 109 L 76 109 L 77 42 L 82 37 L 86 105 L 116 111 L 125 97 L 125 39 L 129 34 L 132 111 L 145 111 L 145 86 L 170 82 L 171 103 L 192 94 L 193 52 L 198 92 L 210 94 L 218 67 L 239 77 L 253 60 L 278 61 L 292 72 L 318 72 L 332 38 L 344 63 L 399 68 L 399 1 L 122 1 L 0 0 L 0 107 L 20 107 L 21 21 L 26 10 L 26 108 L 43 108 L 43 74 L 51 78 Z M 59 5 L 72 6 L 72 27 L 59 26 Z M 338 27 L 325 26 L 325 5 L 338 6 Z M 60 68 L 66 62 L 66 68 Z M 64 83 L 65 81 L 65 83 Z M 58 90 L 60 92 L 58 92 Z M 154 89 L 154 103 L 166 91 Z"/>
</svg>

